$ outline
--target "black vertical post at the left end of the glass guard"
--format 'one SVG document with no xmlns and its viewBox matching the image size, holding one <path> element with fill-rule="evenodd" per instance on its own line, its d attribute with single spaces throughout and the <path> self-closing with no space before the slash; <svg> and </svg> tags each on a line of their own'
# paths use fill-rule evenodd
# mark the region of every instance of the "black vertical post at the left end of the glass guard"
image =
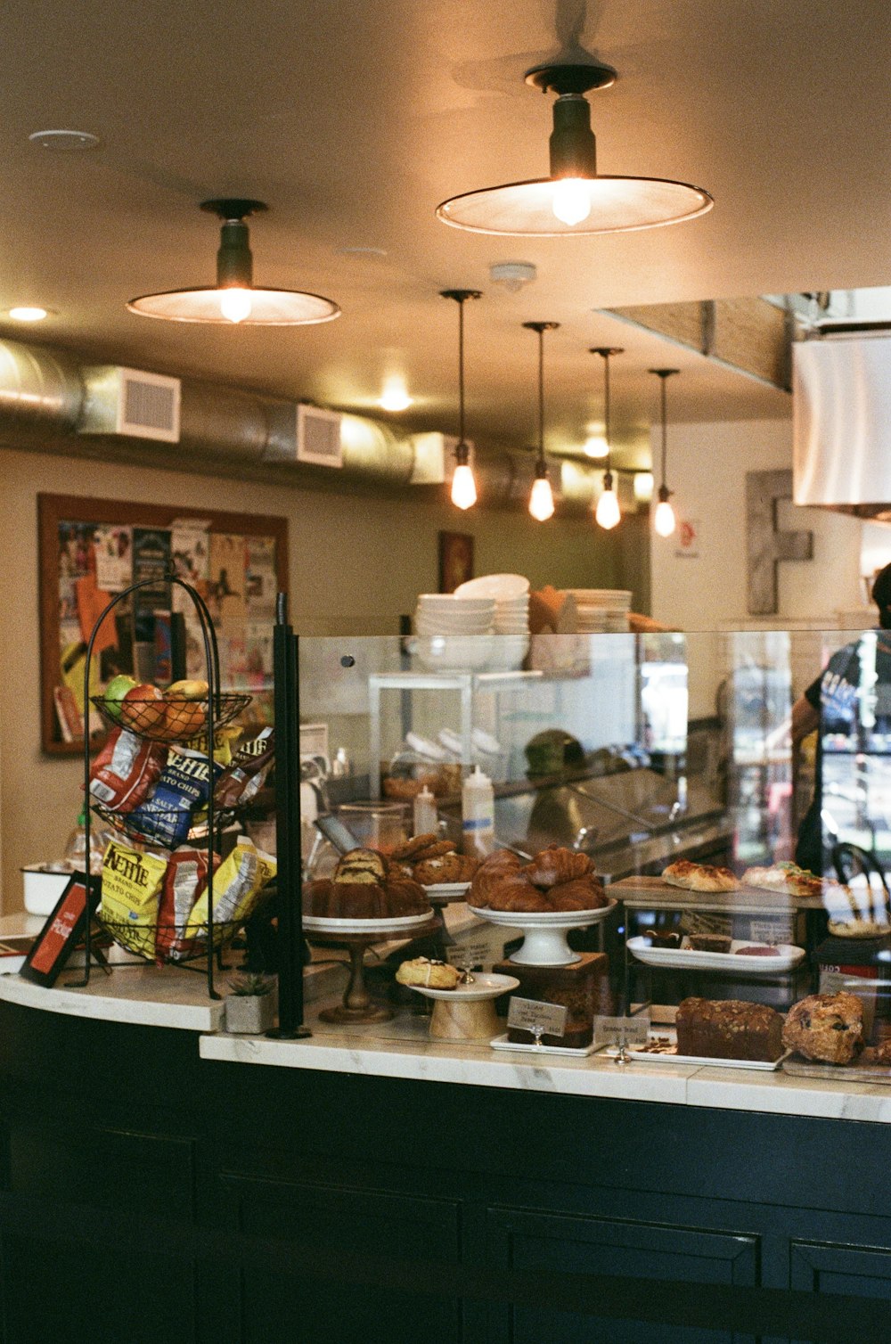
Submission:
<svg viewBox="0 0 891 1344">
<path fill-rule="evenodd" d="M 278 1027 L 282 1040 L 309 1036 L 304 1027 L 304 917 L 300 845 L 300 688 L 297 636 L 288 624 L 288 598 L 275 601 L 273 629 L 275 714 L 275 860 L 278 886 Z"/>
</svg>

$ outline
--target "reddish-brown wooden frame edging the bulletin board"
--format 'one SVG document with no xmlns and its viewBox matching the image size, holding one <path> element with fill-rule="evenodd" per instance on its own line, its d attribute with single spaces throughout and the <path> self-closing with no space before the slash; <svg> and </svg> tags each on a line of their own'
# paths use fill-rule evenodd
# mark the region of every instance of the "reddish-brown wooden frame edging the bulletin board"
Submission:
<svg viewBox="0 0 891 1344">
<path fill-rule="evenodd" d="M 288 590 L 288 519 L 262 513 L 227 513 L 219 509 L 191 508 L 176 504 L 137 504 L 114 499 L 89 499 L 78 495 L 38 495 L 38 544 L 39 544 L 39 607 L 40 607 L 40 746 L 47 755 L 70 757 L 83 750 L 83 737 L 71 734 L 65 741 L 59 714 L 56 712 L 56 687 L 63 680 L 62 672 L 62 602 L 60 570 L 63 548 L 60 528 L 71 524 L 86 536 L 89 528 L 128 528 L 169 531 L 180 520 L 206 524 L 210 543 L 219 538 L 258 540 L 274 554 L 273 567 L 278 591 Z M 149 538 L 151 540 L 151 538 Z M 66 543 L 67 544 L 67 543 Z M 230 599 L 226 582 L 226 569 L 219 571 L 223 582 L 218 585 L 220 605 Z M 246 590 L 247 591 L 247 590 Z M 101 595 L 101 594 L 99 594 Z M 242 594 L 246 598 L 246 593 Z M 269 633 L 274 613 L 269 613 Z M 74 621 L 71 620 L 73 625 Z M 219 633 L 219 632 L 218 632 Z M 83 656 L 81 652 L 81 661 Z M 97 743 L 101 735 L 94 734 Z"/>
</svg>

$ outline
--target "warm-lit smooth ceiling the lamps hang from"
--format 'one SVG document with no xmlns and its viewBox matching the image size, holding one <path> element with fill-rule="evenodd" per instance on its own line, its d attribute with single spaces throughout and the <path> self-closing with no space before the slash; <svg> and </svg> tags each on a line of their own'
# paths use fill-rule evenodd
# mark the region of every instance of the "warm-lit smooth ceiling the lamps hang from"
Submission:
<svg viewBox="0 0 891 1344">
<path fill-rule="evenodd" d="M 446 196 L 547 172 L 550 99 L 527 67 L 581 44 L 616 66 L 591 94 L 603 172 L 679 177 L 715 208 L 593 239 L 485 238 L 434 218 Z M 414 429 L 454 429 L 466 313 L 468 433 L 535 437 L 546 337 L 548 448 L 602 415 L 591 345 L 613 364 L 616 438 L 640 464 L 653 364 L 676 364 L 676 421 L 789 413 L 783 392 L 667 348 L 597 310 L 888 281 L 891 24 L 875 0 L 30 0 L 0 16 L 0 309 L 55 310 L 0 335 L 372 410 L 406 378 Z M 90 152 L 28 142 L 47 128 Z M 876 128 L 879 128 L 876 130 Z M 212 281 L 208 196 L 253 196 L 257 284 L 335 298 L 297 329 L 199 328 L 129 314 L 137 293 Z M 371 249 L 371 251 L 349 251 Z M 531 261 L 517 294 L 489 281 Z M 383 414 L 376 411 L 376 414 Z M 395 417 L 394 417 L 395 419 Z"/>
</svg>

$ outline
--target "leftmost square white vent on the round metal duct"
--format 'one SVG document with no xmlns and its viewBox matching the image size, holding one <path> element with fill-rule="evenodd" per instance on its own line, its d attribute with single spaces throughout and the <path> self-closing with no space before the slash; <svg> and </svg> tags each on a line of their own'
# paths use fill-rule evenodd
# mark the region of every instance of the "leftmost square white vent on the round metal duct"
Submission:
<svg viewBox="0 0 891 1344">
<path fill-rule="evenodd" d="M 83 370 L 86 395 L 78 434 L 124 434 L 179 444 L 180 380 L 120 364 Z"/>
</svg>

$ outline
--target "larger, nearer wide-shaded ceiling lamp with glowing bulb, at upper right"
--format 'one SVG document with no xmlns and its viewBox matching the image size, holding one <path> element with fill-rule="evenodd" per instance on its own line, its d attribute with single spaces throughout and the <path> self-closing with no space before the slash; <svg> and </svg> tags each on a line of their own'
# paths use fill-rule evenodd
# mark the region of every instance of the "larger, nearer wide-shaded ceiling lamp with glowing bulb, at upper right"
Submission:
<svg viewBox="0 0 891 1344">
<path fill-rule="evenodd" d="M 703 215 L 714 199 L 702 187 L 665 177 L 607 177 L 597 171 L 591 109 L 585 97 L 609 89 L 616 71 L 590 65 L 535 66 L 525 82 L 555 93 L 551 175 L 468 191 L 437 207 L 437 218 L 477 234 L 559 238 L 654 228 Z"/>
</svg>

